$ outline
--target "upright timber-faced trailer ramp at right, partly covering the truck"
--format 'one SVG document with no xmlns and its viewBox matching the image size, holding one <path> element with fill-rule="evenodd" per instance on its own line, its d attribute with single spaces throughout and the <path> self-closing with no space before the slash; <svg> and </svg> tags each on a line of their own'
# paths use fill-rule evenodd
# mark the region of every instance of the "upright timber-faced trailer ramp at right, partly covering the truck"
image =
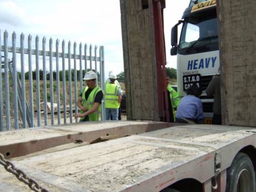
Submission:
<svg viewBox="0 0 256 192">
<path fill-rule="evenodd" d="M 217 2 L 224 124 L 256 126 L 256 1 Z"/>
</svg>

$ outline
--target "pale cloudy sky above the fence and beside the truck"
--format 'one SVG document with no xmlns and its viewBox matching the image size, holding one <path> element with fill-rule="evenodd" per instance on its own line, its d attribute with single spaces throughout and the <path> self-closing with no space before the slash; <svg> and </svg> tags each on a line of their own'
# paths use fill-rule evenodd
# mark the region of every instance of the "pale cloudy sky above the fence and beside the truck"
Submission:
<svg viewBox="0 0 256 192">
<path fill-rule="evenodd" d="M 188 4 L 189 0 L 166 0 L 164 25 L 167 67 L 176 68 L 176 57 L 170 56 L 170 31 L 181 19 Z M 97 45 L 98 50 L 104 46 L 105 72 L 114 71 L 118 74 L 124 71 L 119 0 L 0 0 L 0 28 L 2 45 L 3 32 L 6 30 L 9 46 L 13 31 L 17 34 L 17 47 L 22 32 L 25 42 L 27 36 L 32 35 L 33 46 L 36 35 L 40 37 L 40 47 L 43 36 L 47 43 L 52 38 L 53 50 L 57 38 L 60 46 L 62 40 L 65 40 L 66 45 L 68 41 L 72 44 L 76 42 L 77 52 L 80 42 L 87 46 Z M 28 70 L 27 62 L 25 70 Z"/>
</svg>

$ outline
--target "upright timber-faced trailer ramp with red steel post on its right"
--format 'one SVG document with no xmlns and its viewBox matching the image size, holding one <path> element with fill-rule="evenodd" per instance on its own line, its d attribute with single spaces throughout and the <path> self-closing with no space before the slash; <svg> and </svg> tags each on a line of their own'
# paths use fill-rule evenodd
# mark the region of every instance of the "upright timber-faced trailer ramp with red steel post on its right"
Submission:
<svg viewBox="0 0 256 192">
<path fill-rule="evenodd" d="M 120 8 L 127 119 L 157 121 L 152 11 L 141 0 L 120 0 Z"/>
</svg>

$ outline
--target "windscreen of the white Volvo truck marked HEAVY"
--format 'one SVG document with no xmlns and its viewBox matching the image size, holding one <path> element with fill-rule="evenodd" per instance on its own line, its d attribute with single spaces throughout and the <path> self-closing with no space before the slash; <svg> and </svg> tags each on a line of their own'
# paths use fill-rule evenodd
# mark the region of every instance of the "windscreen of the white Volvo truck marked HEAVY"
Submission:
<svg viewBox="0 0 256 192">
<path fill-rule="evenodd" d="M 193 14 L 184 19 L 178 53 L 189 55 L 216 51 L 218 46 L 218 25 L 216 9 Z"/>
</svg>

